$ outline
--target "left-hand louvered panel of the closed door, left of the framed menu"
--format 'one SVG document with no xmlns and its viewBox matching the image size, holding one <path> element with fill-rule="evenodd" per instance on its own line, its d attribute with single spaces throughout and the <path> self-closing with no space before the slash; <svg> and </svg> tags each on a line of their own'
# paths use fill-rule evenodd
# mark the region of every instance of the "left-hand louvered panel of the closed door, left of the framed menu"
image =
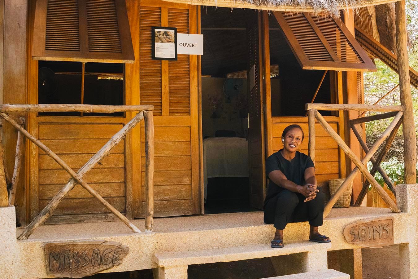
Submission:
<svg viewBox="0 0 418 279">
<path fill-rule="evenodd" d="M 161 26 L 161 8 L 141 7 L 139 12 L 140 104 L 153 105 L 153 114 L 161 115 L 161 60 L 152 59 L 152 26 Z"/>
</svg>

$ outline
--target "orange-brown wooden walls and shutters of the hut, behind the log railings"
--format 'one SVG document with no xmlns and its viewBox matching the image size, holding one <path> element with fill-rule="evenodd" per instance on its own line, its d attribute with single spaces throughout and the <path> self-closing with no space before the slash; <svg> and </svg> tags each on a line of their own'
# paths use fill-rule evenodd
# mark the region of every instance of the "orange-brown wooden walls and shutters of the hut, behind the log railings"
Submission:
<svg viewBox="0 0 418 279">
<path fill-rule="evenodd" d="M 376 23 L 363 23 L 352 10 L 340 13 L 334 1 L 326 2 L 329 6 L 307 2 L 314 8 L 300 9 L 283 8 L 279 1 L 217 1 L 218 9 L 212 7 L 215 2 L 199 2 L 205 6 L 191 2 L 23 1 L 27 12 L 15 4 L 5 5 L 3 102 L 153 105 L 155 216 L 204 214 L 204 138 L 214 137 L 216 130 L 246 135 L 248 159 L 240 164 L 243 169 L 248 166 L 248 180 L 241 182 L 242 197 L 251 207 L 261 208 L 265 158 L 280 148 L 286 125 L 298 123 L 308 132 L 304 104 L 363 103 L 362 71 L 376 68 L 354 38 L 354 22 L 368 30 Z M 365 4 L 353 1 L 352 5 Z M 297 13 L 302 10 L 316 14 Z M 17 16 L 20 20 L 14 21 Z M 12 36 L 8 27 L 13 22 L 24 23 L 24 28 Z M 152 26 L 203 34 L 204 54 L 178 54 L 172 61 L 152 59 Z M 224 88 L 228 79 L 241 82 L 239 96 L 223 94 L 229 90 Z M 222 99 L 225 108 L 215 111 L 208 103 L 210 97 Z M 237 100 L 244 103 L 239 108 Z M 213 113 L 222 117 L 210 118 Z M 240 118 L 242 113 L 248 117 Z M 351 149 L 362 154 L 347 124 L 357 112 L 325 115 Z M 25 125 L 78 169 L 130 118 L 129 112 L 28 113 Z M 326 184 L 328 179 L 345 177 L 352 165 L 317 125 L 316 174 L 319 183 Z M 12 173 L 16 133 L 8 125 L 3 131 L 7 171 Z M 144 144 L 143 127 L 135 129 L 87 178 L 128 218 L 144 216 Z M 16 196 L 22 225 L 33 220 L 69 179 L 43 151 L 28 142 L 25 146 Z M 302 151 L 307 148 L 305 143 Z M 357 177 L 354 200 L 361 188 Z M 77 186 L 48 222 L 109 219 L 112 214 Z"/>
</svg>

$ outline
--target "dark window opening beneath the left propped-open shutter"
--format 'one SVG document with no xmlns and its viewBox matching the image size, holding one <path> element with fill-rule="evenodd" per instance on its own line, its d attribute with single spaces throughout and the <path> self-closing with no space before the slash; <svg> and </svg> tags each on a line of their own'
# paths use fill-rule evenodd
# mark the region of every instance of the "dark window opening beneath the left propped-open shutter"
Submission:
<svg viewBox="0 0 418 279">
<path fill-rule="evenodd" d="M 39 104 L 124 105 L 124 64 L 86 63 L 84 97 L 82 95 L 82 63 L 39 61 Z M 123 116 L 119 113 L 53 112 L 55 116 Z"/>
</svg>

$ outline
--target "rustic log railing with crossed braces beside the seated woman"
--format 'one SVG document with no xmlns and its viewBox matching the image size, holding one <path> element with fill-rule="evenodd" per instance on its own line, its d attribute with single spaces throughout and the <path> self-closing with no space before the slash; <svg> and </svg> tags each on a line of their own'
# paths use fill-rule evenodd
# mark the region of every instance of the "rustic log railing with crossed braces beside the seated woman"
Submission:
<svg viewBox="0 0 418 279">
<path fill-rule="evenodd" d="M 380 167 L 380 163 L 382 162 L 382 159 L 384 158 L 385 154 L 390 148 L 390 145 L 392 144 L 393 139 L 395 138 L 396 132 L 398 131 L 398 128 L 400 124 L 402 123 L 402 106 L 380 106 L 380 105 L 362 105 L 362 104 L 306 104 L 305 109 L 308 111 L 308 127 L 309 127 L 309 143 L 308 143 L 308 153 L 309 156 L 311 156 L 312 161 L 315 161 L 315 118 L 319 121 L 321 126 L 324 128 L 324 130 L 329 133 L 331 138 L 338 143 L 340 148 L 344 151 L 345 154 L 351 159 L 351 161 L 356 165 L 356 167 L 352 170 L 352 172 L 346 177 L 343 184 L 339 187 L 337 192 L 334 196 L 331 197 L 329 202 L 325 205 L 324 209 L 324 217 L 328 215 L 328 213 L 331 211 L 331 208 L 334 206 L 336 201 L 339 199 L 339 197 L 342 195 L 344 190 L 348 187 L 348 185 L 354 180 L 354 177 L 361 172 L 363 176 L 367 179 L 367 183 L 364 183 L 362 192 L 357 198 L 357 201 L 354 203 L 354 205 L 359 206 L 364 196 L 367 193 L 367 189 L 369 187 L 369 184 L 372 185 L 373 188 L 379 193 L 379 195 L 382 197 L 382 199 L 386 202 L 386 204 L 390 207 L 390 209 L 393 212 L 400 212 L 398 206 L 393 202 L 393 200 L 387 195 L 387 193 L 382 189 L 379 183 L 374 178 L 374 175 L 376 171 L 379 171 L 380 174 L 382 174 L 382 177 L 385 179 L 385 182 L 389 186 L 389 188 L 395 192 L 394 186 L 392 182 L 390 181 L 389 177 L 387 177 L 387 174 L 384 169 Z M 334 131 L 334 129 L 331 128 L 331 126 L 326 122 L 324 117 L 318 112 L 318 110 L 369 110 L 369 111 L 383 111 L 387 113 L 382 113 L 378 115 L 372 115 L 367 117 L 361 117 L 352 119 L 349 122 L 350 128 L 353 130 L 354 134 L 356 135 L 358 141 L 360 142 L 362 148 L 366 152 L 366 155 L 364 158 L 360 161 L 359 158 L 354 154 L 354 152 L 347 146 L 347 144 L 344 142 L 342 138 Z M 361 134 L 355 128 L 356 124 L 364 123 L 372 120 L 378 120 L 378 119 L 385 119 L 394 117 L 390 125 L 386 128 L 386 130 L 382 133 L 382 135 L 377 139 L 377 141 L 373 144 L 373 146 L 369 149 L 364 142 Z M 389 138 L 388 138 L 389 137 Z M 373 154 L 377 151 L 379 146 L 387 139 L 385 146 L 383 150 L 381 151 L 379 157 L 375 159 L 373 157 Z M 365 166 L 368 161 L 372 161 L 373 168 L 369 172 Z"/>
</svg>

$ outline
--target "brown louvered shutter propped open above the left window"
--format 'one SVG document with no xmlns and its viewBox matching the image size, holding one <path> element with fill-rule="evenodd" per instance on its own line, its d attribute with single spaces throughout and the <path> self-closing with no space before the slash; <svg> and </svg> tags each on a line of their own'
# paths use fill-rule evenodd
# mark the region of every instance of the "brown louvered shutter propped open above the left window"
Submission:
<svg viewBox="0 0 418 279">
<path fill-rule="evenodd" d="M 125 0 L 38 0 L 32 58 L 133 63 Z"/>
</svg>

